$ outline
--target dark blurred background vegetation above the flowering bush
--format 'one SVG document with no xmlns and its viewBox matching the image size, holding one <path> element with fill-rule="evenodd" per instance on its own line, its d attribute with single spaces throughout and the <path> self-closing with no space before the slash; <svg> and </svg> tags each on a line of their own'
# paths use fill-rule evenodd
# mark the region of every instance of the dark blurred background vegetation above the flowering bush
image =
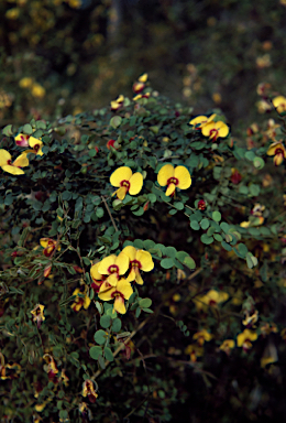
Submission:
<svg viewBox="0 0 286 423">
<path fill-rule="evenodd" d="M 3 0 L 2 126 L 106 106 L 147 72 L 235 133 L 264 111 L 258 84 L 286 91 L 285 20 L 285 0 Z"/>
</svg>

